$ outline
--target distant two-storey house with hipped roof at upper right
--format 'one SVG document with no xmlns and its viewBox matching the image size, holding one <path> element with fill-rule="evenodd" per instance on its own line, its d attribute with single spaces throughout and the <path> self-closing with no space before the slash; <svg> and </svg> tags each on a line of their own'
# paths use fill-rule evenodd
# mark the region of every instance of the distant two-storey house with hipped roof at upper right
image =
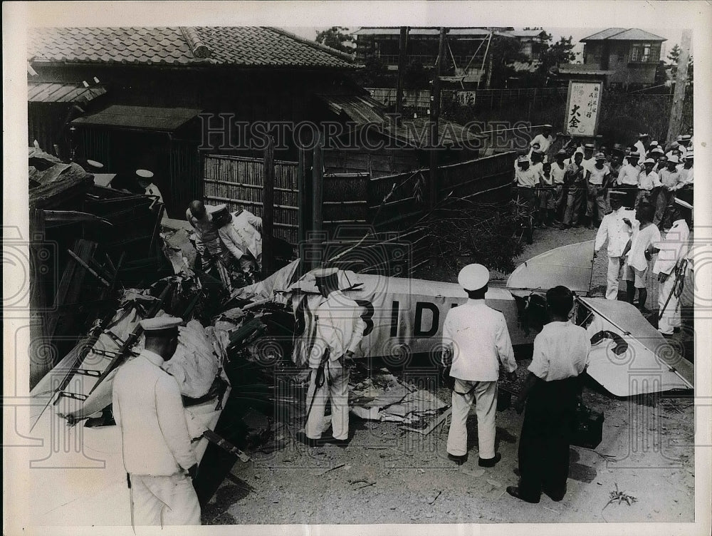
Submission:
<svg viewBox="0 0 712 536">
<path fill-rule="evenodd" d="M 637 28 L 609 28 L 581 39 L 583 63 L 559 68 L 564 78 L 601 79 L 606 86 L 644 88 L 655 81 L 665 38 Z"/>
</svg>

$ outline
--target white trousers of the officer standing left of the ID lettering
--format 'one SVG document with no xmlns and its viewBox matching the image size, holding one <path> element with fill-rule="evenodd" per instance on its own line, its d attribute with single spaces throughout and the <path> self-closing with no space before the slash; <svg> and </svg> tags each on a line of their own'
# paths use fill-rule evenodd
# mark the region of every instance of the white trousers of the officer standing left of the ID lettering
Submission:
<svg viewBox="0 0 712 536">
<path fill-rule="evenodd" d="M 331 429 L 335 439 L 349 437 L 349 369 L 339 361 L 327 361 L 324 366 L 323 386 L 316 386 L 316 368 L 311 369 L 307 408 L 311 410 L 305 426 L 306 436 L 319 439 L 324 428 L 324 411 L 331 401 Z M 313 401 L 313 402 L 312 402 Z"/>
</svg>

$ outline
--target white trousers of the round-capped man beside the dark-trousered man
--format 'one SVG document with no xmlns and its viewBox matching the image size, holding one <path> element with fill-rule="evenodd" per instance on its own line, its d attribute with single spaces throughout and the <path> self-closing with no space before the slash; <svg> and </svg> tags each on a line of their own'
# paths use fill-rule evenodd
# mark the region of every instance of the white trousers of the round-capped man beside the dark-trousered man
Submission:
<svg viewBox="0 0 712 536">
<path fill-rule="evenodd" d="M 474 384 L 477 386 L 471 390 Z M 467 453 L 467 416 L 472 402 L 477 415 L 477 443 L 480 458 L 494 458 L 495 416 L 497 414 L 496 381 L 464 381 L 455 379 L 452 393 L 452 422 L 447 436 L 447 451 L 454 456 Z"/>
</svg>

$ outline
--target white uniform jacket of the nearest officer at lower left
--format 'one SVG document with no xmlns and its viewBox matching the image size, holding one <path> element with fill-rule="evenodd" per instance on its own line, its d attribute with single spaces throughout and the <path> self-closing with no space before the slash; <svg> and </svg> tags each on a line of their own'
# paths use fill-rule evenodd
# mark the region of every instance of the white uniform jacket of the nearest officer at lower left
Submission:
<svg viewBox="0 0 712 536">
<path fill-rule="evenodd" d="M 178 383 L 162 364 L 161 356 L 142 350 L 114 378 L 112 410 L 121 429 L 127 473 L 174 475 L 198 462 Z"/>
</svg>

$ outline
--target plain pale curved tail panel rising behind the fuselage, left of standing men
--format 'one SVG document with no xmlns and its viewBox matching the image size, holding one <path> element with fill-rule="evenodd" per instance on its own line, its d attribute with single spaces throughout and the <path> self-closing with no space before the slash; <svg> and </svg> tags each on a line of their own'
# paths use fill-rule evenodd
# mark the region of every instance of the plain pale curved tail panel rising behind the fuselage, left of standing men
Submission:
<svg viewBox="0 0 712 536">
<path fill-rule="evenodd" d="M 520 264 L 507 279 L 508 289 L 548 290 L 563 285 L 590 292 L 594 241 L 550 249 Z"/>
</svg>

